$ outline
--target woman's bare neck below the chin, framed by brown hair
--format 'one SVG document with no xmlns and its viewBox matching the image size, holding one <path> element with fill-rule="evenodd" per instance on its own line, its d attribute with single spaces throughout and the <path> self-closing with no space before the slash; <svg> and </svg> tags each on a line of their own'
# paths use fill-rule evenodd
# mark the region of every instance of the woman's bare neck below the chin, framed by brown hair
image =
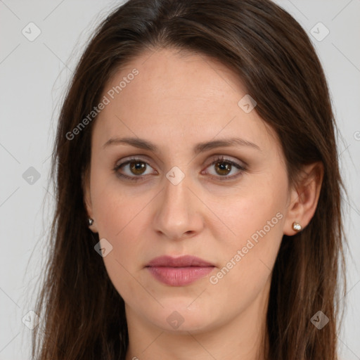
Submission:
<svg viewBox="0 0 360 360">
<path fill-rule="evenodd" d="M 125 307 L 129 331 L 126 360 L 264 360 L 269 284 L 232 319 L 207 329 L 169 332 Z M 220 323 L 220 321 L 219 321 Z"/>
</svg>

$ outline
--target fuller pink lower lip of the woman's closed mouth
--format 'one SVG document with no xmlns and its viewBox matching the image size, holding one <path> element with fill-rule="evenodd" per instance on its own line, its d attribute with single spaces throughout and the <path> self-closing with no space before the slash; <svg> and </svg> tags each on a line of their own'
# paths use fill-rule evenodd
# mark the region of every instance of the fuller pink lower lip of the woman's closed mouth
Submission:
<svg viewBox="0 0 360 360">
<path fill-rule="evenodd" d="M 214 266 L 149 266 L 147 269 L 161 283 L 170 286 L 184 286 L 207 276 L 214 269 Z"/>
</svg>

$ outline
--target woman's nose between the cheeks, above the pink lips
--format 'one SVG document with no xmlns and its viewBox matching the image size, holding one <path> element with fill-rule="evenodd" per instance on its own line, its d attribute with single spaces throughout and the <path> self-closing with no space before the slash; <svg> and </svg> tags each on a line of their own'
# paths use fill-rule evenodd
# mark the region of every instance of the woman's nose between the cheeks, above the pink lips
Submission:
<svg viewBox="0 0 360 360">
<path fill-rule="evenodd" d="M 179 184 L 165 178 L 153 219 L 155 231 L 171 240 L 191 238 L 203 229 L 202 203 L 187 176 Z"/>
</svg>

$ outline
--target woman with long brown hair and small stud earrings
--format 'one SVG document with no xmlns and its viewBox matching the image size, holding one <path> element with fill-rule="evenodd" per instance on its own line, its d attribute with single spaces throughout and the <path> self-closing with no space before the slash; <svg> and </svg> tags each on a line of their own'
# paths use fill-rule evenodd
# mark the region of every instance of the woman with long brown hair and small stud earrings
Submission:
<svg viewBox="0 0 360 360">
<path fill-rule="evenodd" d="M 34 358 L 338 359 L 334 132 L 271 1 L 120 6 L 60 113 Z"/>
</svg>

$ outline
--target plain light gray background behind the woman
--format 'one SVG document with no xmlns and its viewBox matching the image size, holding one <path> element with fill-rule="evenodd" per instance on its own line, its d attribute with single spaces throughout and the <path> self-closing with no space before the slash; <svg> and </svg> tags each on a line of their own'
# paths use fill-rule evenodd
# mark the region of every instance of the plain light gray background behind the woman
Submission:
<svg viewBox="0 0 360 360">
<path fill-rule="evenodd" d="M 341 132 L 340 161 L 349 192 L 344 212 L 349 287 L 339 339 L 342 359 L 360 359 L 360 0 L 276 2 L 314 42 Z M 118 4 L 0 0 L 0 360 L 30 358 L 32 330 L 23 317 L 33 309 L 46 259 L 53 209 L 49 156 L 58 108 L 94 25 Z M 319 22 L 330 31 L 324 39 L 326 28 Z M 27 37 L 41 34 L 30 41 L 23 29 Z"/>
</svg>

